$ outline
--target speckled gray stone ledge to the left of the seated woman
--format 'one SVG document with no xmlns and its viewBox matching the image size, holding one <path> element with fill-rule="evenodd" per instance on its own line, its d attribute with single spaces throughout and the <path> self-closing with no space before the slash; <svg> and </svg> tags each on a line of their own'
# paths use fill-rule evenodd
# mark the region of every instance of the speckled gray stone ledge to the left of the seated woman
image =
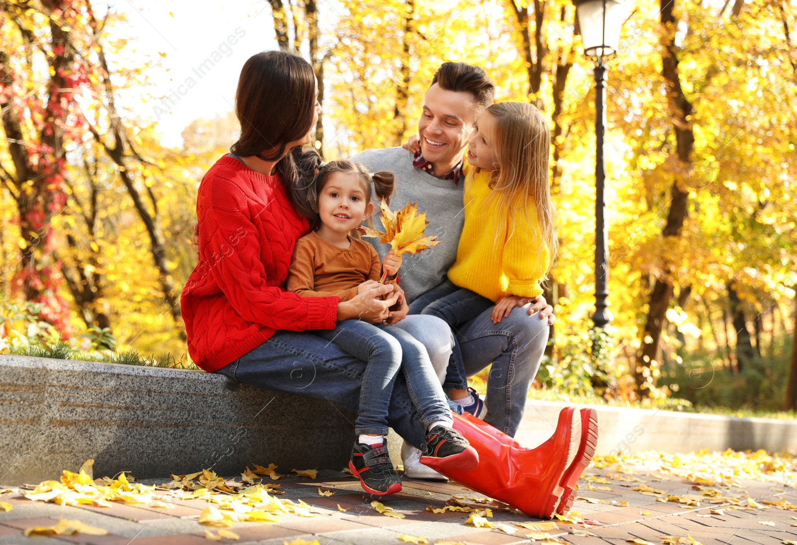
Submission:
<svg viewBox="0 0 797 545">
<path fill-rule="evenodd" d="M 341 469 L 355 415 L 221 374 L 0 355 L 0 483 L 96 475 L 241 472 L 252 463 Z M 250 466 L 251 467 L 251 466 Z"/>
</svg>

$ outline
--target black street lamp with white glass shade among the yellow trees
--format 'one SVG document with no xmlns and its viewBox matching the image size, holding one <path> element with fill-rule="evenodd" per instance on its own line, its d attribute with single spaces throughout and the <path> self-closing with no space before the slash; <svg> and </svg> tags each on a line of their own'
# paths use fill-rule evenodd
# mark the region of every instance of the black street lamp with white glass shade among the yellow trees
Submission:
<svg viewBox="0 0 797 545">
<path fill-rule="evenodd" d="M 574 0 L 584 53 L 595 61 L 595 327 L 611 322 L 609 312 L 609 235 L 606 225 L 606 168 L 603 164 L 603 135 L 606 127 L 606 57 L 617 53 L 620 27 L 626 15 L 624 2 Z"/>
</svg>

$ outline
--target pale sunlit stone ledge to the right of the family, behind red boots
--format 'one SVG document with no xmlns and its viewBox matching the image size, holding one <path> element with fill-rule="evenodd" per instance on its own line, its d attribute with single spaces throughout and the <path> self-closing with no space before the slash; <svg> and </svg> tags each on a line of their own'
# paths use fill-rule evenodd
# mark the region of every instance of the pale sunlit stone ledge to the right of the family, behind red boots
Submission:
<svg viewBox="0 0 797 545">
<path fill-rule="evenodd" d="M 516 438 L 535 447 L 556 429 L 559 411 L 567 403 L 529 401 Z M 666 453 L 758 450 L 797 451 L 797 420 L 734 418 L 719 414 L 593 406 L 600 434 L 596 454 Z"/>
</svg>

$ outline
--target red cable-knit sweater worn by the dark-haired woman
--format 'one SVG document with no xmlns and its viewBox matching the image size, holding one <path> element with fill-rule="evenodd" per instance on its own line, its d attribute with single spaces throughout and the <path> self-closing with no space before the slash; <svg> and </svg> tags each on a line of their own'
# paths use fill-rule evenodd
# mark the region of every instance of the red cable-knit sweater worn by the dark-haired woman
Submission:
<svg viewBox="0 0 797 545">
<path fill-rule="evenodd" d="M 310 226 L 279 174 L 266 176 L 223 156 L 199 185 L 199 263 L 180 308 L 188 353 L 213 372 L 277 330 L 333 329 L 338 297 L 286 292 L 293 246 Z"/>
</svg>

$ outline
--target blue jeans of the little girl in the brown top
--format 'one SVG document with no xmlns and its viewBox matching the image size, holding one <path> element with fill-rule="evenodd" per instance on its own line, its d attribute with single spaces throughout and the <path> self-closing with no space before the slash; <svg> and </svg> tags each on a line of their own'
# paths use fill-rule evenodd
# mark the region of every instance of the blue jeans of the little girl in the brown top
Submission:
<svg viewBox="0 0 797 545">
<path fill-rule="evenodd" d="M 355 433 L 387 435 L 387 411 L 399 369 L 425 426 L 451 418 L 446 394 L 426 348 L 406 331 L 391 325 L 344 320 L 335 329 L 314 333 L 367 362 L 360 382 Z"/>
</svg>

